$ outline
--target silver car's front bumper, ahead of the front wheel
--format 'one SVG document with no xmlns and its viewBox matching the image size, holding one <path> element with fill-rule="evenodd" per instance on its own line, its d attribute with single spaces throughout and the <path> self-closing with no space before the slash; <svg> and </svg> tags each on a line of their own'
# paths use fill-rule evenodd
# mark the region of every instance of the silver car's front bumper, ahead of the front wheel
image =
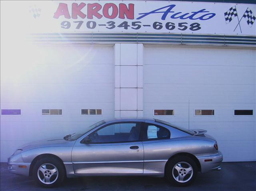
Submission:
<svg viewBox="0 0 256 191">
<path fill-rule="evenodd" d="M 29 168 L 31 163 L 24 163 L 23 160 L 20 159 L 17 160 L 17 158 L 21 155 L 18 157 L 17 156 L 8 158 L 8 171 L 13 174 L 29 176 Z"/>
</svg>

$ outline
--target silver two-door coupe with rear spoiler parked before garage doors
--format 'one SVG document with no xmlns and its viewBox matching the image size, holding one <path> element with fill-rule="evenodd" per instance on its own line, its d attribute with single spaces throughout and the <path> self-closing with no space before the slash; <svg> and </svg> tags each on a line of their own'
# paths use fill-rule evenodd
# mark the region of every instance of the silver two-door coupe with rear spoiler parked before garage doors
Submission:
<svg viewBox="0 0 256 191">
<path fill-rule="evenodd" d="M 8 170 L 33 176 L 44 187 L 91 175 L 161 175 L 186 186 L 198 172 L 220 170 L 222 153 L 205 133 L 158 119 L 104 120 L 64 138 L 19 147 L 8 158 Z"/>
</svg>

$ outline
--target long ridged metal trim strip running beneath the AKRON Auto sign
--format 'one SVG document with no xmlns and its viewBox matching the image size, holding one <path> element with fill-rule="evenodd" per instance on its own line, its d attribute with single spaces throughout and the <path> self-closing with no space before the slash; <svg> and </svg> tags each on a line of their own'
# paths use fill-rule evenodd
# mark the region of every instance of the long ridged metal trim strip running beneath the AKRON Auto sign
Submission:
<svg viewBox="0 0 256 191">
<path fill-rule="evenodd" d="M 35 43 L 164 43 L 222 46 L 256 46 L 256 36 L 208 35 L 208 34 L 166 34 L 166 33 L 40 33 L 27 36 Z"/>
</svg>

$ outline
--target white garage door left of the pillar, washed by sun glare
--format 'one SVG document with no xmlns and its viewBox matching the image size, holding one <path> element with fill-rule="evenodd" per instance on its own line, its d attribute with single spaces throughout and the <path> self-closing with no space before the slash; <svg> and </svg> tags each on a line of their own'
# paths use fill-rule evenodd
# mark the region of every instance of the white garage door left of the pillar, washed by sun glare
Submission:
<svg viewBox="0 0 256 191">
<path fill-rule="evenodd" d="M 36 45 L 30 51 L 1 62 L 1 162 L 28 141 L 113 117 L 113 47 Z M 7 115 L 12 109 L 21 115 Z"/>
</svg>

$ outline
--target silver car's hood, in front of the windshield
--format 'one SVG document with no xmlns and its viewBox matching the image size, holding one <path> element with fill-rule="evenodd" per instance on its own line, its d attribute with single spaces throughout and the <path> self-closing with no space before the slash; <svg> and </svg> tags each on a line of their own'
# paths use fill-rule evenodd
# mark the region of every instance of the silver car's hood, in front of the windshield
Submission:
<svg viewBox="0 0 256 191">
<path fill-rule="evenodd" d="M 39 141 L 32 141 L 29 143 L 26 143 L 24 145 L 21 145 L 18 147 L 18 149 L 21 149 L 23 151 L 39 148 L 39 147 L 60 147 L 60 146 L 73 146 L 75 141 L 66 141 L 63 138 L 50 138 L 50 139 L 42 139 Z"/>
</svg>

